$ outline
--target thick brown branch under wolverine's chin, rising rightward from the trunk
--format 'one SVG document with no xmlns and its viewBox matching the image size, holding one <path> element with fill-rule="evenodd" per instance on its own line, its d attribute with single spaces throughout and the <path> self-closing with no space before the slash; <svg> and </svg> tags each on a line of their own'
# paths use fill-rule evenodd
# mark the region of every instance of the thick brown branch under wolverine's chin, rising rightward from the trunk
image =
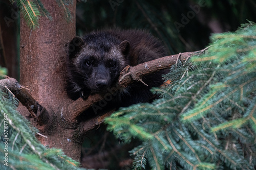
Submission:
<svg viewBox="0 0 256 170">
<path fill-rule="evenodd" d="M 126 87 L 133 81 L 140 81 L 141 78 L 146 75 L 152 74 L 162 69 L 170 68 L 170 66 L 176 64 L 178 60 L 185 62 L 189 57 L 201 52 L 202 51 L 180 53 L 148 61 L 133 67 L 127 66 L 121 72 L 117 88 L 120 89 L 121 87 Z M 67 107 L 67 114 L 70 116 L 71 121 L 75 122 L 77 117 L 82 114 L 82 112 L 102 99 L 103 97 L 99 94 L 90 95 L 86 101 L 83 101 L 81 98 L 79 98 Z"/>
</svg>

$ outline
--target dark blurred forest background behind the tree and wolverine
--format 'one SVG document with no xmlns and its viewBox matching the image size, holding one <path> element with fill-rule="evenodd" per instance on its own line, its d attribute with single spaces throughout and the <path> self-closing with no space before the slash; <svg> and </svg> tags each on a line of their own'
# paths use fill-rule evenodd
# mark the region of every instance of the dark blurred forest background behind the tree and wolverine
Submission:
<svg viewBox="0 0 256 170">
<path fill-rule="evenodd" d="M 7 67 L 8 76 L 15 79 L 19 77 L 18 16 L 15 4 L 0 1 L 0 65 Z M 114 27 L 145 29 L 158 37 L 172 55 L 202 50 L 212 33 L 235 31 L 247 20 L 256 21 L 254 0 L 88 0 L 77 4 L 76 33 L 81 36 Z M 83 144 L 81 164 L 87 168 L 129 169 L 132 159 L 128 151 L 132 148 L 132 144 L 120 144 L 99 127 Z"/>
</svg>

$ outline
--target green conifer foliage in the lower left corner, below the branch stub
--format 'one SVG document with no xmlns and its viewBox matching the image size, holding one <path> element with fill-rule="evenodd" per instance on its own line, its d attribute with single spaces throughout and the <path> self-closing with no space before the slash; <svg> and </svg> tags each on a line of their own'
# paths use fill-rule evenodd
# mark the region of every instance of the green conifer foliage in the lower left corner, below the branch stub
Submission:
<svg viewBox="0 0 256 170">
<path fill-rule="evenodd" d="M 6 69 L 0 67 L 1 74 Z M 6 89 L 0 90 L 0 169 L 83 169 L 60 149 L 48 149 L 35 137 L 38 130 L 15 109 L 18 101 Z"/>
</svg>

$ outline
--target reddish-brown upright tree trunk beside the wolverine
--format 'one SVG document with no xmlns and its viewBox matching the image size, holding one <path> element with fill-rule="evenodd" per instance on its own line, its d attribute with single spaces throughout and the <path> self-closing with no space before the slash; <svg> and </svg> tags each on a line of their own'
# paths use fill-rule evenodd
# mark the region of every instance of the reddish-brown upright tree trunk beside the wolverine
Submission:
<svg viewBox="0 0 256 170">
<path fill-rule="evenodd" d="M 61 148 L 66 155 L 79 161 L 82 140 L 74 137 L 78 128 L 65 124 L 61 109 L 62 104 L 70 101 L 65 91 L 65 59 L 66 43 L 75 36 L 76 1 L 68 6 L 72 15 L 69 22 L 65 9 L 59 7 L 55 0 L 41 2 L 53 20 L 40 17 L 39 28 L 31 30 L 24 17 L 21 18 L 20 84 L 30 89 L 33 98 L 48 111 L 44 124 L 31 121 L 41 134 L 47 136 L 38 136 L 39 141 L 50 148 Z M 19 111 L 24 116 L 30 114 L 22 106 L 19 106 Z"/>
</svg>

